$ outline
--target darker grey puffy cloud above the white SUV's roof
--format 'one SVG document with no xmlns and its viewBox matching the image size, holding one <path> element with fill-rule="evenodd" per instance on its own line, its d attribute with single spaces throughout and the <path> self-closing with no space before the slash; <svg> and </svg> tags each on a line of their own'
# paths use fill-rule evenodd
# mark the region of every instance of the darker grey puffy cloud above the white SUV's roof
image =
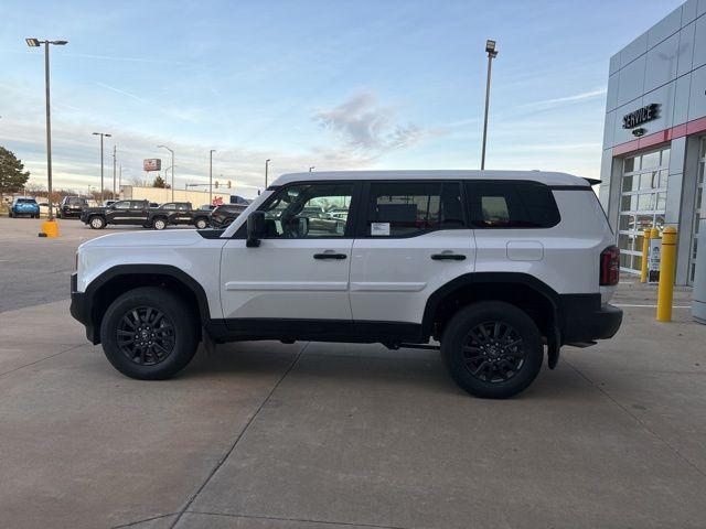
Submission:
<svg viewBox="0 0 706 529">
<path fill-rule="evenodd" d="M 395 109 L 377 106 L 371 93 L 356 94 L 333 109 L 319 110 L 313 119 L 363 155 L 404 149 L 434 133 L 414 123 L 399 125 Z"/>
</svg>

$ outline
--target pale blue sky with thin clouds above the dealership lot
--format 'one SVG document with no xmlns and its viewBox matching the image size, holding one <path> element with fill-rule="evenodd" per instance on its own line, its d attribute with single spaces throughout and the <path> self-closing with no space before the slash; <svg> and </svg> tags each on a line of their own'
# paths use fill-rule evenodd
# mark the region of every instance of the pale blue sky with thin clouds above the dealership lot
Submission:
<svg viewBox="0 0 706 529">
<path fill-rule="evenodd" d="M 232 181 L 252 197 L 288 172 L 486 169 L 598 177 L 612 54 L 678 0 L 0 0 L 0 145 L 46 182 L 51 48 L 54 187 L 106 188 L 142 160 L 175 187 Z M 153 177 L 153 173 L 150 175 Z"/>
</svg>

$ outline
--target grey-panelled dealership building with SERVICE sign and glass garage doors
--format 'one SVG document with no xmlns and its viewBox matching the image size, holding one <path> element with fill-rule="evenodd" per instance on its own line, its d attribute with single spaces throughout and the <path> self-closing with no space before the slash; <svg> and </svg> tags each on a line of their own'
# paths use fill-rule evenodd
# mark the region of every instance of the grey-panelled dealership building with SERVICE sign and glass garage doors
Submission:
<svg viewBox="0 0 706 529">
<path fill-rule="evenodd" d="M 693 284 L 706 165 L 706 0 L 688 0 L 610 58 L 600 201 L 639 272 L 643 231 L 678 230 L 676 283 Z"/>
</svg>

